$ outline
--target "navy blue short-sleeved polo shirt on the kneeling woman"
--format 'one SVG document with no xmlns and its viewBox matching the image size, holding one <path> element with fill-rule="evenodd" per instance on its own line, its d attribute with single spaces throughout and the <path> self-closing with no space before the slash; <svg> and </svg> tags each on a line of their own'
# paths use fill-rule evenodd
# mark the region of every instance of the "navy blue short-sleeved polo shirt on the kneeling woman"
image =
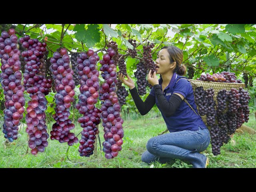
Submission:
<svg viewBox="0 0 256 192">
<path fill-rule="evenodd" d="M 177 82 L 177 80 L 180 78 L 186 78 L 186 77 L 179 76 L 176 73 L 173 74 L 172 79 L 170 80 L 170 83 L 164 89 L 164 92 L 163 92 L 164 97 L 166 98 L 167 101 L 169 101 L 172 94 L 174 93 L 182 94 L 198 114 L 192 85 L 186 79 L 181 79 Z M 162 88 L 162 82 L 163 82 L 162 77 L 158 80 L 158 82 Z M 155 96 L 154 87 L 152 87 L 150 94 L 152 96 Z M 200 126 L 203 129 L 207 128 L 201 116 L 196 115 L 195 112 L 190 108 L 190 106 L 188 106 L 188 104 L 184 102 L 184 100 L 182 101 L 182 103 L 180 104 L 176 112 L 170 117 L 164 116 L 161 108 L 159 107 L 157 98 L 156 98 L 156 106 L 160 110 L 164 118 L 164 121 L 166 123 L 166 126 L 170 132 L 178 132 L 182 130 L 194 131 L 194 130 L 198 130 L 198 126 Z"/>
</svg>

